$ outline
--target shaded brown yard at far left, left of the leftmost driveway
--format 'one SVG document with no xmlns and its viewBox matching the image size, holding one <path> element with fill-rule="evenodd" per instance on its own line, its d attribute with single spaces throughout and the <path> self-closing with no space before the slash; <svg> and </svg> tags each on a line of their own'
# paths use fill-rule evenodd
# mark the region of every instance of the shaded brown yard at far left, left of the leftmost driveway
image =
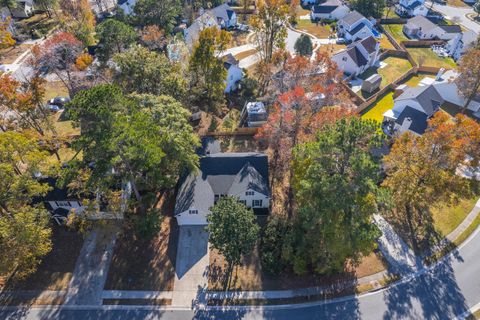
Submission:
<svg viewBox="0 0 480 320">
<path fill-rule="evenodd" d="M 37 271 L 23 280 L 11 279 L 5 290 L 67 289 L 83 246 L 83 236 L 63 226 L 55 225 L 52 229 L 52 251 L 42 259 Z"/>
</svg>

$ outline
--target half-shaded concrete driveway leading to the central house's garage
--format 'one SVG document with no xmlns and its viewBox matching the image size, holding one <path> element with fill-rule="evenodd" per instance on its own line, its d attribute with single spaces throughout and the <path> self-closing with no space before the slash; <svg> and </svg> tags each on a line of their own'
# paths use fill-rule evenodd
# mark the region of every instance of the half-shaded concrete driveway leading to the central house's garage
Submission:
<svg viewBox="0 0 480 320">
<path fill-rule="evenodd" d="M 202 303 L 208 284 L 208 232 L 205 226 L 180 226 L 172 305 Z"/>
</svg>

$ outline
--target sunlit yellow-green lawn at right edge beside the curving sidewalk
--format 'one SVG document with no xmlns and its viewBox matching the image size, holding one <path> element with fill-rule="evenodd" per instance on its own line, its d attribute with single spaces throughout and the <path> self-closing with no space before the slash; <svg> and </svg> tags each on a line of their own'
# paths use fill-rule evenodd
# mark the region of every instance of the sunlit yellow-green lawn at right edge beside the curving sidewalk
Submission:
<svg viewBox="0 0 480 320">
<path fill-rule="evenodd" d="M 471 198 L 461 199 L 453 205 L 441 204 L 430 209 L 435 229 L 446 236 L 465 219 L 477 203 L 479 195 Z"/>
</svg>

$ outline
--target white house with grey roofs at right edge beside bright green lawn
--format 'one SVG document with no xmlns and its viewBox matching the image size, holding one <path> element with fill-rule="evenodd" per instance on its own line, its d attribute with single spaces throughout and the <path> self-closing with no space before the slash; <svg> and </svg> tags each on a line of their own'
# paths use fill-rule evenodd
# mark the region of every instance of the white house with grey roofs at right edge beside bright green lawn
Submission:
<svg viewBox="0 0 480 320">
<path fill-rule="evenodd" d="M 422 135 L 428 119 L 441 107 L 462 108 L 465 99 L 454 82 L 458 76 L 455 71 L 440 70 L 435 79 L 425 77 L 417 87 L 399 86 L 393 108 L 383 114 L 385 133 L 394 135 L 410 131 Z M 480 112 L 480 99 L 472 101 L 468 110 L 472 114 Z"/>
</svg>

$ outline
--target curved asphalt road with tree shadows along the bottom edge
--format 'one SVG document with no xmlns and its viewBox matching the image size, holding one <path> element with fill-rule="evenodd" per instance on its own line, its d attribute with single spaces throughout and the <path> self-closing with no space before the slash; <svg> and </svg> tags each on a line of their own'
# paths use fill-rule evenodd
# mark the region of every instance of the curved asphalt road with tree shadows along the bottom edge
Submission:
<svg viewBox="0 0 480 320">
<path fill-rule="evenodd" d="M 4 308 L 0 319 L 455 319 L 480 302 L 480 229 L 457 251 L 377 292 L 307 304 L 265 307 L 100 306 Z M 477 306 L 478 307 L 478 306 Z"/>
</svg>

